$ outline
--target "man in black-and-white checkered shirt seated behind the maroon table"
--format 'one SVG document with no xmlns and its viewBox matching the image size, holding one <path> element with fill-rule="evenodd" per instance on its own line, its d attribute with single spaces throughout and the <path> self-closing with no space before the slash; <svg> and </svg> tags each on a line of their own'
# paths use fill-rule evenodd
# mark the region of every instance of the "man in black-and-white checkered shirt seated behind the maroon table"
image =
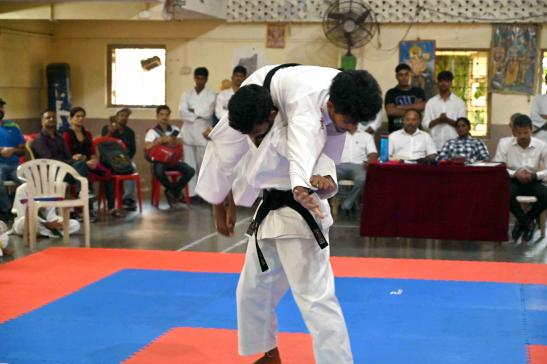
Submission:
<svg viewBox="0 0 547 364">
<path fill-rule="evenodd" d="M 471 123 L 465 117 L 456 120 L 456 132 L 458 137 L 450 139 L 444 143 L 441 149 L 438 160 L 461 160 L 465 158 L 465 162 L 474 163 L 490 159 L 488 149 L 482 140 L 473 138 L 469 134 Z"/>
</svg>

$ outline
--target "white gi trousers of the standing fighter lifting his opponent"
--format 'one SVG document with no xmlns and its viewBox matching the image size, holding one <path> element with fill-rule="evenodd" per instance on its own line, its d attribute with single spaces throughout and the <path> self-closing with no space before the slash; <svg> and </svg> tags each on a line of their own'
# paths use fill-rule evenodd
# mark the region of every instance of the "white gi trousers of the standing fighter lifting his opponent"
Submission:
<svg viewBox="0 0 547 364">
<path fill-rule="evenodd" d="M 269 269 L 261 272 L 251 237 L 237 285 L 239 353 L 263 353 L 277 346 L 275 307 L 290 287 L 313 337 L 316 363 L 353 363 L 329 247 L 322 250 L 315 239 L 302 238 L 263 239 L 259 244 Z"/>
</svg>

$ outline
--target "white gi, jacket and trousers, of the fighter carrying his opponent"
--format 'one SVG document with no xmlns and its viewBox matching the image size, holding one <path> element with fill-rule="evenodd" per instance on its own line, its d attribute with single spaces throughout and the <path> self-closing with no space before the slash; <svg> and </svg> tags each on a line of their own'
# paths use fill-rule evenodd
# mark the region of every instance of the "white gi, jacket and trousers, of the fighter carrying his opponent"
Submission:
<svg viewBox="0 0 547 364">
<path fill-rule="evenodd" d="M 287 128 L 276 123 L 258 150 L 251 147 L 233 184 L 236 204 L 252 204 L 261 189 L 290 190 L 286 134 Z M 313 174 L 328 175 L 336 181 L 332 159 L 321 154 Z M 333 223 L 326 200 L 330 196 L 321 196 L 319 204 L 325 217 L 317 221 L 327 241 Z M 346 323 L 335 295 L 329 247 L 319 248 L 305 220 L 290 207 L 270 211 L 258 228 L 257 239 L 269 269 L 261 271 L 251 236 L 237 286 L 239 353 L 251 355 L 277 347 L 275 307 L 290 287 L 313 337 L 316 362 L 353 363 Z"/>
</svg>

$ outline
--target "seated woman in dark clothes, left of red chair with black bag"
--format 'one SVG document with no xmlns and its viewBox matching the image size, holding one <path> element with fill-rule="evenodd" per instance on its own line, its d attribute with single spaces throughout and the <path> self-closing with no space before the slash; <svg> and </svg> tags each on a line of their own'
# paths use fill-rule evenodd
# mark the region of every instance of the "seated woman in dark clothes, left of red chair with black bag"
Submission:
<svg viewBox="0 0 547 364">
<path fill-rule="evenodd" d="M 106 191 L 106 200 L 108 212 L 115 217 L 123 217 L 122 210 L 116 209 L 114 197 L 114 182 L 112 181 L 112 172 L 99 162 L 97 152 L 93 147 L 93 135 L 85 128 L 86 112 L 82 107 L 74 107 L 70 110 L 70 129 L 64 132 L 63 139 L 72 154 L 72 158 L 88 164 L 90 182 L 103 183 Z M 90 190 L 93 191 L 93 184 L 90 183 Z"/>
</svg>

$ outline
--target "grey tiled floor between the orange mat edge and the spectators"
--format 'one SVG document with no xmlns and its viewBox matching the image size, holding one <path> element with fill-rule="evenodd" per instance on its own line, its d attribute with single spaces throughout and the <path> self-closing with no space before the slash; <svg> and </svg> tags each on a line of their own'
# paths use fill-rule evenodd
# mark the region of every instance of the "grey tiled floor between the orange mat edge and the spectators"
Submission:
<svg viewBox="0 0 547 364">
<path fill-rule="evenodd" d="M 249 224 L 251 210 L 241 208 L 234 237 L 218 235 L 213 226 L 211 208 L 206 204 L 182 205 L 168 210 L 163 203 L 154 209 L 145 203 L 143 214 L 130 213 L 124 219 L 101 216 L 91 226 L 93 247 L 212 251 L 241 253 L 246 247 L 243 235 Z M 353 257 L 389 257 L 419 259 L 451 259 L 547 263 L 547 239 L 529 245 L 510 242 L 438 241 L 430 239 L 371 239 L 359 236 L 357 217 L 338 216 L 331 229 L 331 254 Z M 21 238 L 11 236 L 18 259 L 30 254 Z M 83 245 L 79 235 L 71 237 L 69 246 Z M 64 246 L 61 239 L 38 240 L 38 250 Z"/>
</svg>

